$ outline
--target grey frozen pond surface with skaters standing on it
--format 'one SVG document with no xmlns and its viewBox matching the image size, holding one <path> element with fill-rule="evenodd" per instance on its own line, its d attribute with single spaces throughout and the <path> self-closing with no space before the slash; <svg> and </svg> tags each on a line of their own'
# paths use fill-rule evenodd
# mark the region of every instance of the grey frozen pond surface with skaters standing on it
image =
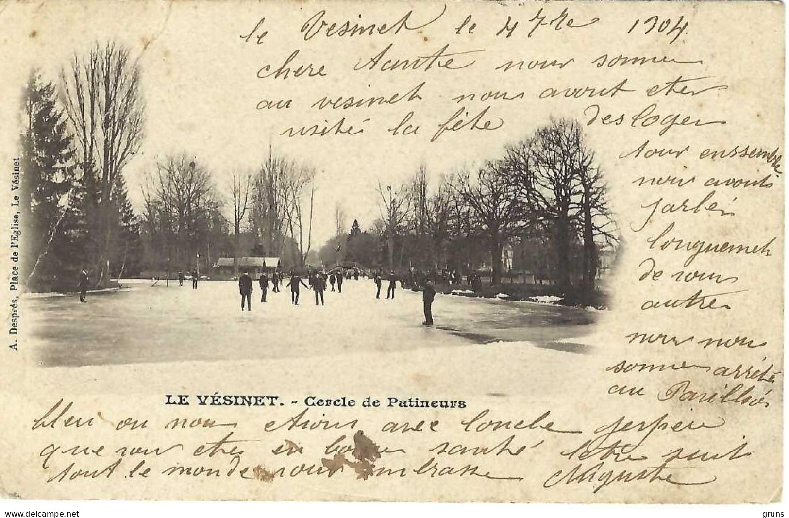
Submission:
<svg viewBox="0 0 789 518">
<path fill-rule="evenodd" d="M 28 296 L 24 300 L 39 362 L 44 367 L 215 360 L 266 360 L 417 348 L 525 347 L 565 353 L 589 352 L 574 337 L 591 332 L 599 313 L 576 307 L 436 296 L 436 326 L 421 326 L 421 293 L 398 289 L 394 300 L 376 300 L 372 280 L 345 281 L 342 293 L 327 291 L 315 306 L 301 289 L 252 294 L 252 311 L 241 311 L 235 282 L 122 281 L 125 289 L 78 296 Z M 384 284 L 382 293 L 385 293 Z"/>
</svg>

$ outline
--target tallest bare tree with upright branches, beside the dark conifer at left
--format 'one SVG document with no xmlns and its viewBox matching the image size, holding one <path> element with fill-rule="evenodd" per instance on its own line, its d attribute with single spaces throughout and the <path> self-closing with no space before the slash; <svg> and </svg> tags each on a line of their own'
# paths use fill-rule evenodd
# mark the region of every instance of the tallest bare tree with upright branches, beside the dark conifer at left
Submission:
<svg viewBox="0 0 789 518">
<path fill-rule="evenodd" d="M 143 138 L 140 69 L 128 48 L 97 43 L 87 55 L 74 54 L 69 67 L 61 70 L 61 83 L 88 196 L 98 215 L 94 237 L 97 285 L 106 286 L 110 281 L 113 186 Z"/>
</svg>

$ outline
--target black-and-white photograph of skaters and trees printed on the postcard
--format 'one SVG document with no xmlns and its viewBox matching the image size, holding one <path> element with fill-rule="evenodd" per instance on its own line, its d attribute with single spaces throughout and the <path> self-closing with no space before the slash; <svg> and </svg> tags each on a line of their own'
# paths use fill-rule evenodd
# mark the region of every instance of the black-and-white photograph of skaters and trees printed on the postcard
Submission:
<svg viewBox="0 0 789 518">
<path fill-rule="evenodd" d="M 619 234 L 578 121 L 537 121 L 465 163 L 400 156 L 389 170 L 229 135 L 257 159 L 226 165 L 198 139 L 151 142 L 148 125 L 183 123 L 150 109 L 131 53 L 94 43 L 24 85 L 21 277 L 43 366 L 496 342 L 591 352 L 572 338 L 608 310 Z"/>
</svg>

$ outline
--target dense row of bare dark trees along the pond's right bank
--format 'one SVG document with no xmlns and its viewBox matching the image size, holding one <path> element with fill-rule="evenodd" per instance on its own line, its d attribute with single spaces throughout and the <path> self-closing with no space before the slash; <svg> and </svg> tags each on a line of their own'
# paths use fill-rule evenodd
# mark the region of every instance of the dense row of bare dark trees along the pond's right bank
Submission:
<svg viewBox="0 0 789 518">
<path fill-rule="evenodd" d="M 338 231 L 320 251 L 323 263 L 461 274 L 484 264 L 498 285 L 509 246 L 535 278 L 593 290 L 600 248 L 618 240 L 603 172 L 578 121 L 552 120 L 434 184 L 421 166 L 409 181 L 376 190 L 380 218 L 365 232 L 355 220 L 349 233 Z"/>
</svg>

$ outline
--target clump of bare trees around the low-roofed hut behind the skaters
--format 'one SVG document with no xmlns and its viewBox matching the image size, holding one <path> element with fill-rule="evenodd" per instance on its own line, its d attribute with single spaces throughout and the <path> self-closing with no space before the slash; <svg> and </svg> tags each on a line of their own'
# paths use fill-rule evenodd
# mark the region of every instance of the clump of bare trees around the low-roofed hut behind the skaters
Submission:
<svg viewBox="0 0 789 518">
<path fill-rule="evenodd" d="M 233 257 L 236 275 L 242 255 L 305 265 L 316 189 L 312 166 L 270 149 L 255 170 L 234 171 L 224 185 L 214 177 L 185 153 L 156 164 L 143 187 L 144 263 L 159 271 L 191 270 L 198 255 L 208 265 Z"/>
</svg>

